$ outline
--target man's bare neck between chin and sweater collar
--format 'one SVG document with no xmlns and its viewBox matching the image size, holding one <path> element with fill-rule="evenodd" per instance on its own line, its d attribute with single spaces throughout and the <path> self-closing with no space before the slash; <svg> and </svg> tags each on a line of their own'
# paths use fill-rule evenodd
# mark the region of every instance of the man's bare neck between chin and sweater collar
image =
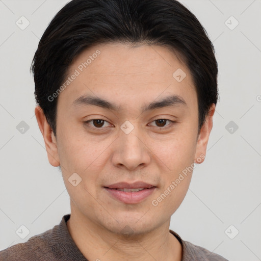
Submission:
<svg viewBox="0 0 261 261">
<path fill-rule="evenodd" d="M 69 233 L 88 260 L 180 261 L 182 247 L 169 232 L 170 220 L 146 234 L 118 234 L 71 208 Z"/>
</svg>

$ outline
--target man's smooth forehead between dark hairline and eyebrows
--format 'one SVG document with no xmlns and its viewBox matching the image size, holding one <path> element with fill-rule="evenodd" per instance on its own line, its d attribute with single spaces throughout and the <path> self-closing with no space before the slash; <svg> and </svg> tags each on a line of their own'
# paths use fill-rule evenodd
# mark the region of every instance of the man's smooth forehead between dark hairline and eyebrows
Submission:
<svg viewBox="0 0 261 261">
<path fill-rule="evenodd" d="M 126 109 L 172 94 L 188 104 L 196 99 L 189 69 L 163 46 L 95 45 L 73 61 L 68 77 L 73 74 L 77 76 L 60 95 L 67 105 L 88 94 L 113 100 Z"/>
</svg>

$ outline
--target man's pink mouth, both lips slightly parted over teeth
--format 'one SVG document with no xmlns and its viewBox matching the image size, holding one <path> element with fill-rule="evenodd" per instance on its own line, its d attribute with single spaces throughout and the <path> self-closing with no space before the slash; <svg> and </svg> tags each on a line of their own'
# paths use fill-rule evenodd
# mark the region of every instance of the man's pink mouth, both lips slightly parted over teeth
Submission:
<svg viewBox="0 0 261 261">
<path fill-rule="evenodd" d="M 111 198 L 125 204 L 139 203 L 150 196 L 156 189 L 155 186 L 140 181 L 132 184 L 119 182 L 103 188 L 105 188 Z"/>
</svg>

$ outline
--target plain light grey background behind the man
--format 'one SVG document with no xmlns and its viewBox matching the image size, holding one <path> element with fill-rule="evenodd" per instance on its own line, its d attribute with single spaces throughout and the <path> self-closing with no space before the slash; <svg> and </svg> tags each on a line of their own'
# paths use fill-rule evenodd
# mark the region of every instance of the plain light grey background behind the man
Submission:
<svg viewBox="0 0 261 261">
<path fill-rule="evenodd" d="M 29 72 L 47 24 L 67 2 L 0 0 L 0 249 L 27 241 L 70 213 L 62 176 L 48 163 L 34 116 Z M 261 1 L 180 2 L 214 42 L 220 102 L 205 162 L 195 168 L 170 228 L 231 261 L 261 260 Z M 24 30 L 16 25 L 26 25 L 21 16 L 30 21 Z M 16 233 L 26 233 L 21 225 L 30 231 L 24 239 Z"/>
</svg>

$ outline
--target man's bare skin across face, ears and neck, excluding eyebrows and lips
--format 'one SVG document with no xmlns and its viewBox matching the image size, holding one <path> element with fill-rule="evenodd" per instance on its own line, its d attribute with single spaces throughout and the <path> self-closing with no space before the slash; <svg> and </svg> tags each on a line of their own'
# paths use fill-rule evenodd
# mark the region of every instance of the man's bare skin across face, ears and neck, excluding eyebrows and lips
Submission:
<svg viewBox="0 0 261 261">
<path fill-rule="evenodd" d="M 100 55 L 59 95 L 56 137 L 41 108 L 35 109 L 49 163 L 61 166 L 70 195 L 68 230 L 88 260 L 181 260 L 182 247 L 169 225 L 188 191 L 192 171 L 157 206 L 151 202 L 182 170 L 203 162 L 215 105 L 198 135 L 198 103 L 191 73 L 163 46 L 92 46 L 73 61 L 68 75 L 97 49 Z M 187 74 L 181 82 L 172 76 L 178 68 Z M 120 108 L 73 106 L 75 99 L 87 94 Z M 169 95 L 182 97 L 187 106 L 141 113 L 147 103 Z M 105 122 L 84 123 L 91 119 Z M 164 125 L 156 121 L 159 119 L 176 123 L 166 121 Z M 120 128 L 126 120 L 134 126 L 129 134 Z M 76 187 L 68 181 L 75 172 L 82 178 Z M 144 181 L 157 188 L 141 202 L 126 204 L 103 188 L 120 181 Z M 126 226 L 131 232 L 124 234 Z"/>
</svg>

